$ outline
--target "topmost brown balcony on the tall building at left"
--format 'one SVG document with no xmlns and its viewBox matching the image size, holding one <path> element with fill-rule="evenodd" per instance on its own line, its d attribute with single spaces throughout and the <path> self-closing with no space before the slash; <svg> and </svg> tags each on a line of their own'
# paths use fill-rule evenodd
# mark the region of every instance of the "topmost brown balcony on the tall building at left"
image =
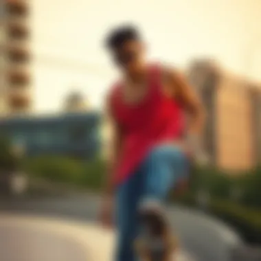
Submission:
<svg viewBox="0 0 261 261">
<path fill-rule="evenodd" d="M 28 3 L 25 0 L 7 0 L 6 1 L 6 13 L 8 16 L 27 16 L 29 14 Z"/>
</svg>

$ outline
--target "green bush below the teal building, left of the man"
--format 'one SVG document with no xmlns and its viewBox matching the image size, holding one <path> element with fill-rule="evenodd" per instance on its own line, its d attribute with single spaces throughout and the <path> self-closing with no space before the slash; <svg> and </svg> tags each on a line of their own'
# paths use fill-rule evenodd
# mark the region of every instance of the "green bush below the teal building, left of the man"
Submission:
<svg viewBox="0 0 261 261">
<path fill-rule="evenodd" d="M 71 157 L 48 155 L 26 159 L 23 169 L 31 177 L 98 190 L 102 185 L 104 162 L 101 159 L 85 162 Z"/>
</svg>

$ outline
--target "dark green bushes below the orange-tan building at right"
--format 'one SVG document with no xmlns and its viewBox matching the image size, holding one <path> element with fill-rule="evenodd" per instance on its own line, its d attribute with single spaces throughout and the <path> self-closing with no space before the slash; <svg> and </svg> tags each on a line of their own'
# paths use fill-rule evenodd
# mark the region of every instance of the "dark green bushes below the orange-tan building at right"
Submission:
<svg viewBox="0 0 261 261">
<path fill-rule="evenodd" d="M 238 198 L 232 196 L 237 189 Z M 247 242 L 261 243 L 261 172 L 260 168 L 245 174 L 229 175 L 214 168 L 195 168 L 190 190 L 174 201 L 197 207 L 199 190 L 209 193 L 208 209 L 211 214 L 239 231 Z M 218 198 L 218 200 L 217 200 Z"/>
</svg>

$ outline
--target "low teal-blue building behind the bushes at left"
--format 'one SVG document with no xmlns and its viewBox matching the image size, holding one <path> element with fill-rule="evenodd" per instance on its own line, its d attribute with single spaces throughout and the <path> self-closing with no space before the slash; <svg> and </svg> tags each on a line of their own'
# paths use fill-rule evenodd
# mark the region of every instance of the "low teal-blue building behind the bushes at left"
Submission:
<svg viewBox="0 0 261 261">
<path fill-rule="evenodd" d="M 0 131 L 26 155 L 93 157 L 100 151 L 99 113 L 9 118 L 0 120 Z"/>
</svg>

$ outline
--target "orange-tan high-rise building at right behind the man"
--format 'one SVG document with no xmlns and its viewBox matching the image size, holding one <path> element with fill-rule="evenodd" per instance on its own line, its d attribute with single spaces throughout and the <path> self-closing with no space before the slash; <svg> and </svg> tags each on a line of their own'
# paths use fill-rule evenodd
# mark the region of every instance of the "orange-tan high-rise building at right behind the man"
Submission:
<svg viewBox="0 0 261 261">
<path fill-rule="evenodd" d="M 227 170 L 259 164 L 261 88 L 209 61 L 194 63 L 189 77 L 207 111 L 203 146 L 212 163 Z"/>
</svg>

